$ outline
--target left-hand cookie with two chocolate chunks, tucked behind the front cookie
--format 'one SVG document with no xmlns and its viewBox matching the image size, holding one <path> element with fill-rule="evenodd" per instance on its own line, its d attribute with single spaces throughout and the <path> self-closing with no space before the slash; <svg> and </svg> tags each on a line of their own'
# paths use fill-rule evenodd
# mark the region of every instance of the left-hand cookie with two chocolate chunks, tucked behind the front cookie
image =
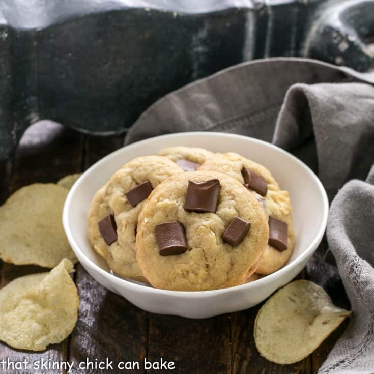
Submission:
<svg viewBox="0 0 374 374">
<path fill-rule="evenodd" d="M 88 220 L 89 240 L 118 275 L 146 280 L 134 252 L 138 216 L 151 190 L 181 172 L 183 170 L 166 157 L 137 157 L 114 173 L 95 194 Z"/>
</svg>

